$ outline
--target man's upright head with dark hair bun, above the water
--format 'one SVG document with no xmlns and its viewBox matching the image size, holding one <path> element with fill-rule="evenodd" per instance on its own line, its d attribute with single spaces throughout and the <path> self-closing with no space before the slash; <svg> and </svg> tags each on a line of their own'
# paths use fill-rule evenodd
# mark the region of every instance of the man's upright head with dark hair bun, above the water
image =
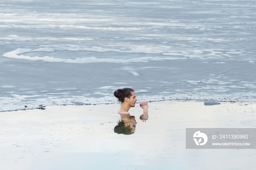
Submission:
<svg viewBox="0 0 256 170">
<path fill-rule="evenodd" d="M 114 92 L 114 96 L 118 98 L 118 101 L 121 103 L 128 102 L 131 107 L 135 106 L 135 102 L 137 101 L 135 92 L 131 88 L 123 88 L 117 89 Z"/>
</svg>

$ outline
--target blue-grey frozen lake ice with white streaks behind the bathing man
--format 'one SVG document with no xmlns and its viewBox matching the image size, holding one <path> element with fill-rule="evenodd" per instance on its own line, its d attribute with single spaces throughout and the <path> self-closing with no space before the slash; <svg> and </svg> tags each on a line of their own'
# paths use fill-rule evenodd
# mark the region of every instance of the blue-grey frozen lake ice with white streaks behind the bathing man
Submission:
<svg viewBox="0 0 256 170">
<path fill-rule="evenodd" d="M 256 101 L 253 0 L 4 0 L 0 111 L 142 100 Z"/>
</svg>

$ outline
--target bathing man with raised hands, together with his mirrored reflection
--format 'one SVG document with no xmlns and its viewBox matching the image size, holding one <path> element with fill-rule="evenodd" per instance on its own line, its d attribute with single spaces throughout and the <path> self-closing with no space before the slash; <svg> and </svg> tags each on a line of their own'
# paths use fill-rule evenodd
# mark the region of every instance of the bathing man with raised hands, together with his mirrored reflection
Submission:
<svg viewBox="0 0 256 170">
<path fill-rule="evenodd" d="M 135 92 L 131 88 L 117 89 L 114 92 L 114 96 L 118 98 L 118 101 L 121 103 L 120 109 L 117 110 L 117 113 L 121 116 L 121 120 L 114 128 L 114 132 L 125 135 L 133 134 L 137 122 L 135 116 L 131 116 L 128 111 L 131 107 L 135 107 L 137 101 Z M 140 103 L 140 107 L 143 109 L 143 114 L 140 116 L 140 120 L 145 122 L 148 119 L 147 102 L 143 101 Z"/>
</svg>

